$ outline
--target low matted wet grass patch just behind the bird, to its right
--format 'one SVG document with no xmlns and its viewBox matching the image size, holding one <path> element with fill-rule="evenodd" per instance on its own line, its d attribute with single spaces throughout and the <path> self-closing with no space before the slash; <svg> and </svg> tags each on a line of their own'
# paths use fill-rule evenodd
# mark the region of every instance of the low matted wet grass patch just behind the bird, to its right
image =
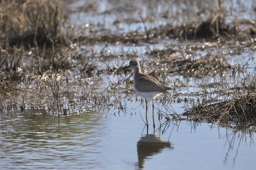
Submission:
<svg viewBox="0 0 256 170">
<path fill-rule="evenodd" d="M 190 53 L 190 54 L 189 54 Z M 151 51 L 148 53 L 155 60 L 151 66 L 162 67 L 168 74 L 180 74 L 186 77 L 204 77 L 223 74 L 231 69 L 230 64 L 224 55 L 208 54 L 200 57 L 194 56 L 192 52 L 183 54 L 172 49 Z"/>
</svg>

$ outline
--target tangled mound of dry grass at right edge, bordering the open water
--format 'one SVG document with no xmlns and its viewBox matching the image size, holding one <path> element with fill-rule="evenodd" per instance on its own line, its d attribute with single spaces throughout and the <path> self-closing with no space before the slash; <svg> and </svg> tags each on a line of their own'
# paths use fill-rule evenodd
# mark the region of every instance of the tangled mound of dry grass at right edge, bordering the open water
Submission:
<svg viewBox="0 0 256 170">
<path fill-rule="evenodd" d="M 255 78 L 255 77 L 254 77 Z M 192 108 L 184 113 L 189 119 L 198 122 L 218 122 L 221 125 L 248 129 L 256 125 L 255 79 L 246 79 L 240 85 L 222 83 L 217 96 L 211 95 L 202 102 L 190 101 Z"/>
</svg>

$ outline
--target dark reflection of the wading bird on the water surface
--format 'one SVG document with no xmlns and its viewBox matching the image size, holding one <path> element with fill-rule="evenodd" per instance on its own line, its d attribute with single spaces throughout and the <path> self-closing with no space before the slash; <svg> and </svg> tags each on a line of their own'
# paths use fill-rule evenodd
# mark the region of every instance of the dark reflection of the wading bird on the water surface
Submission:
<svg viewBox="0 0 256 170">
<path fill-rule="evenodd" d="M 147 135 L 142 136 L 137 142 L 138 164 L 136 166 L 138 166 L 138 169 L 143 169 L 145 160 L 157 153 L 161 153 L 164 148 L 173 149 L 170 142 L 163 141 L 160 136 L 154 133 L 148 134 L 148 125 L 146 127 Z"/>
</svg>

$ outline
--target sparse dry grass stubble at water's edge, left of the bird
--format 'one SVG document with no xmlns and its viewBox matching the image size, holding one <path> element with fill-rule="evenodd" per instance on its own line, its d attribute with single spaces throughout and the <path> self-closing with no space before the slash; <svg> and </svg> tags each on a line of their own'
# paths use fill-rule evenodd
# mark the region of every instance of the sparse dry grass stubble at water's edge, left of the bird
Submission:
<svg viewBox="0 0 256 170">
<path fill-rule="evenodd" d="M 107 88 L 96 91 L 83 82 L 72 88 L 64 88 L 67 82 L 67 77 L 52 72 L 41 78 L 34 77 L 29 84 L 20 86 L 13 82 L 8 84 L 7 81 L 1 83 L 0 109 L 33 113 L 46 110 L 53 116 L 67 116 L 67 113 L 81 113 L 88 109 L 97 112 L 109 109 L 112 94 Z"/>
</svg>

